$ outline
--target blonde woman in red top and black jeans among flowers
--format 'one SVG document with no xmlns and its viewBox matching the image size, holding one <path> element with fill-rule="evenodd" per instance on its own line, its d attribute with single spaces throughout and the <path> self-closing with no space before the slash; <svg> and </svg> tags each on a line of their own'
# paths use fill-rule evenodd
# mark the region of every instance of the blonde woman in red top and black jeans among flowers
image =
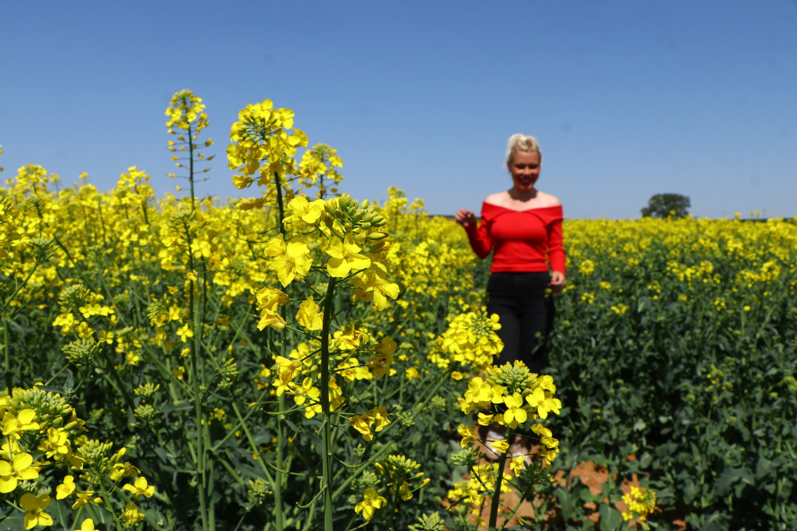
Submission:
<svg viewBox="0 0 797 531">
<path fill-rule="evenodd" d="M 545 291 L 550 287 L 559 293 L 566 282 L 562 204 L 535 188 L 542 154 L 533 136 L 509 138 L 506 164 L 512 188 L 485 199 L 481 225 L 477 227 L 476 216 L 466 209 L 459 209 L 455 218 L 468 232 L 479 258 L 493 250 L 487 312 L 500 318 L 501 365 L 521 360 L 532 373 L 539 374 L 544 356 L 540 340 L 546 338 L 553 322 L 553 300 Z"/>
</svg>

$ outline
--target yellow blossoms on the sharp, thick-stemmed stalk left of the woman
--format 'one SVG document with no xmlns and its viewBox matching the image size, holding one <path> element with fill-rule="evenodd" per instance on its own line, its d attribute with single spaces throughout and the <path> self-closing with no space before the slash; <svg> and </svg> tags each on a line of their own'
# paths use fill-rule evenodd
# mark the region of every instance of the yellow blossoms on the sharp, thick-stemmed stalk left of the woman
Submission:
<svg viewBox="0 0 797 531">
<path fill-rule="evenodd" d="M 331 279 L 347 279 L 348 283 L 355 287 L 351 295 L 351 300 L 355 303 L 373 301 L 377 310 L 383 310 L 387 307 L 388 298 L 395 299 L 398 296 L 398 285 L 391 282 L 388 270 L 387 250 L 392 240 L 384 231 L 384 218 L 378 216 L 373 207 L 369 208 L 367 201 L 360 205 L 347 194 L 326 201 L 312 202 L 303 196 L 296 196 L 289 202 L 289 210 L 292 215 L 285 217 L 285 226 L 296 229 L 296 232 L 300 232 L 300 236 L 286 241 L 285 236 L 280 233 L 269 240 L 264 248 L 264 255 L 270 258 L 269 268 L 276 273 L 283 288 L 289 287 L 292 282 L 304 281 L 311 268 L 315 266 L 318 270 L 325 271 Z M 314 254 L 311 247 L 320 249 L 321 252 Z M 323 263 L 324 260 L 326 264 Z M 270 287 L 262 288 L 257 292 L 256 300 L 257 310 L 261 311 L 257 325 L 260 330 L 264 330 L 267 326 L 285 328 L 286 321 L 280 313 L 285 310 L 280 309 L 288 306 L 290 301 L 284 291 Z M 327 301 L 326 304 L 328 303 Z M 295 319 L 305 330 L 321 330 L 324 310 L 319 303 L 316 303 L 315 297 L 310 295 L 300 303 Z M 359 366 L 359 360 L 352 357 L 347 357 L 338 365 L 336 371 L 340 372 L 344 381 L 370 378 L 372 374 L 382 377 L 390 373 L 396 348 L 391 338 L 383 338 L 381 344 L 367 346 L 368 334 L 357 330 L 352 323 L 330 334 L 329 339 L 336 353 L 358 349 L 367 349 L 371 353 L 371 358 L 364 366 Z M 320 341 L 320 338 L 317 341 Z M 318 352 L 319 349 L 312 353 L 308 351 L 305 360 Z M 307 362 L 312 364 L 312 361 Z M 279 394 L 288 391 L 302 396 L 302 400 L 296 404 L 306 403 L 305 416 L 314 416 L 320 412 L 317 400 L 320 396 L 320 384 L 313 384 L 312 377 L 305 377 L 301 385 L 294 384 L 293 379 L 300 365 L 298 361 L 277 357 L 275 385 Z M 264 372 L 261 372 L 259 377 L 262 375 Z M 320 379 L 320 373 L 312 376 Z M 342 393 L 335 378 L 330 379 L 329 389 L 330 405 L 334 410 L 343 403 Z M 304 397 L 310 400 L 305 402 Z M 371 424 L 376 422 L 375 431 L 381 430 L 383 425 L 387 424 L 387 417 L 380 419 L 378 412 L 379 408 L 374 408 L 362 416 L 355 416 L 352 418 L 352 425 L 363 432 L 363 436 L 367 433 L 372 437 Z"/>
</svg>

